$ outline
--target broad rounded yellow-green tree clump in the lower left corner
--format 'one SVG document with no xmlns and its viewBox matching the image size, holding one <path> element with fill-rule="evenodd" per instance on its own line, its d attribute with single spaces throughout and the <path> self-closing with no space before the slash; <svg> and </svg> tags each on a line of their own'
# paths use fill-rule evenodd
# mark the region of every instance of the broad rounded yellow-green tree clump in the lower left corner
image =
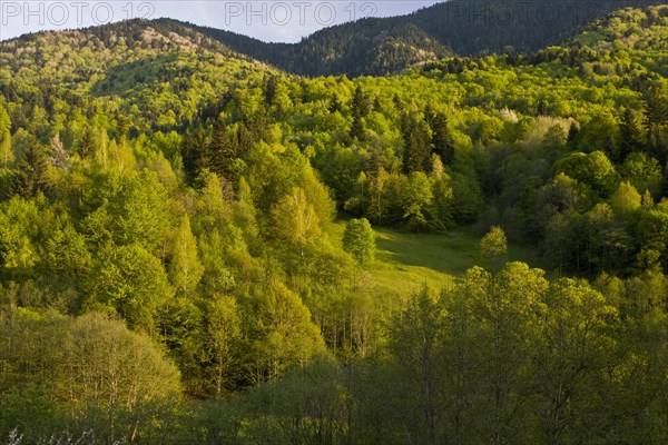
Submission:
<svg viewBox="0 0 668 445">
<path fill-rule="evenodd" d="M 0 414 L 3 435 L 18 427 L 27 433 L 27 439 L 37 439 L 39 434 L 48 437 L 59 433 L 48 428 L 66 428 L 68 416 L 69 426 L 86 413 L 92 423 L 99 409 L 96 435 L 114 439 L 132 431 L 124 416 L 137 417 L 146 405 L 174 403 L 180 397 L 176 366 L 149 338 L 128 330 L 121 322 L 99 314 L 17 316 L 0 319 L 0 353 L 7 366 L 0 388 L 14 388 L 13 396 L 0 399 L 7 409 Z M 30 405 L 17 406 L 19 396 Z M 33 417 L 20 417 L 26 415 Z M 35 428 L 35 424 L 43 427 Z M 134 428 L 146 434 L 150 425 Z"/>
</svg>

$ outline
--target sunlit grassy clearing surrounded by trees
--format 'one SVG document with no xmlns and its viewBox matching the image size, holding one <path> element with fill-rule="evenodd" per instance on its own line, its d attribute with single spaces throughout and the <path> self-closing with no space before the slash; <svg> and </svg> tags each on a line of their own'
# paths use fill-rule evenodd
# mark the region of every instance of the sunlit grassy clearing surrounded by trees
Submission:
<svg viewBox="0 0 668 445">
<path fill-rule="evenodd" d="M 345 220 L 332 225 L 333 243 L 341 243 L 344 229 Z M 405 295 L 425 284 L 440 289 L 470 267 L 487 265 L 480 256 L 480 237 L 465 228 L 439 235 L 410 234 L 384 227 L 374 227 L 374 230 L 377 253 L 370 273 L 376 289 L 383 293 Z M 505 259 L 544 267 L 544 260 L 531 247 L 511 244 Z"/>
</svg>

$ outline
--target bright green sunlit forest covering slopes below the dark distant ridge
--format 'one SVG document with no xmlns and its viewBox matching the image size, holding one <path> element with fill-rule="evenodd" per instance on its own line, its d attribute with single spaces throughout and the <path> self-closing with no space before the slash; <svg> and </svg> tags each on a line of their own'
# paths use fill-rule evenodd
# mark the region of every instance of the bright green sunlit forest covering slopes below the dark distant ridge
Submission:
<svg viewBox="0 0 668 445">
<path fill-rule="evenodd" d="M 0 443 L 668 443 L 667 76 L 665 4 L 351 78 L 0 41 Z"/>
</svg>

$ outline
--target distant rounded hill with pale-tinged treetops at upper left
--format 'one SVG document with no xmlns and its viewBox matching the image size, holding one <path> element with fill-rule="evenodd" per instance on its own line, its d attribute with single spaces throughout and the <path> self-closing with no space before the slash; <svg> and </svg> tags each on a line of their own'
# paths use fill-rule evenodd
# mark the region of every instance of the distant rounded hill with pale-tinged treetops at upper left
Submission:
<svg viewBox="0 0 668 445">
<path fill-rule="evenodd" d="M 174 127 L 214 113 L 232 90 L 273 71 L 176 21 L 130 20 L 0 43 L 0 96 L 14 103 L 14 128 L 85 103 L 89 115 L 91 107 L 132 111 L 137 130 L 147 122 Z"/>
</svg>

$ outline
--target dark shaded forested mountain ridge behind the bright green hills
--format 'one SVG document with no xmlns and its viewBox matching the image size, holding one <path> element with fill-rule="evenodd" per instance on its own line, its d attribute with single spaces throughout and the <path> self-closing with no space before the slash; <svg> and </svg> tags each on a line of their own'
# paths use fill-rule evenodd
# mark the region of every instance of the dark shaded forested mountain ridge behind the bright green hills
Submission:
<svg viewBox="0 0 668 445">
<path fill-rule="evenodd" d="M 258 60 L 305 76 L 403 71 L 445 56 L 537 51 L 623 7 L 657 0 L 449 0 L 402 17 L 367 18 L 323 29 L 294 44 L 266 43 L 214 28 L 200 32 Z M 371 10 L 373 3 L 363 10 Z"/>
</svg>

